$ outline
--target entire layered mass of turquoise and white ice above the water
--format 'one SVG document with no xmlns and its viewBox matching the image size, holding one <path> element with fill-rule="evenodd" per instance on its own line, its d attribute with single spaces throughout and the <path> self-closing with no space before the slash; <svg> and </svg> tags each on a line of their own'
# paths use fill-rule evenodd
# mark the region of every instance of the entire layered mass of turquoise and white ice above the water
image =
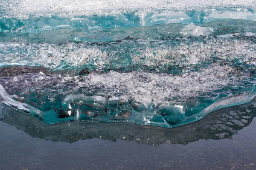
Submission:
<svg viewBox="0 0 256 170">
<path fill-rule="evenodd" d="M 250 0 L 32 2 L 0 4 L 0 98 L 45 124 L 176 127 L 255 96 Z"/>
</svg>

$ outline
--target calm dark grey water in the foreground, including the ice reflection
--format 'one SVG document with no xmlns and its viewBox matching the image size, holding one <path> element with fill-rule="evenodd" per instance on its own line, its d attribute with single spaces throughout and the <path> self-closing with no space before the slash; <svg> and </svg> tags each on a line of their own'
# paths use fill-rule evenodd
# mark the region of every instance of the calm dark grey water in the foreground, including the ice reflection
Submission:
<svg viewBox="0 0 256 170">
<path fill-rule="evenodd" d="M 1 170 L 256 169 L 255 101 L 172 129 L 125 123 L 44 125 L 5 105 Z"/>
</svg>

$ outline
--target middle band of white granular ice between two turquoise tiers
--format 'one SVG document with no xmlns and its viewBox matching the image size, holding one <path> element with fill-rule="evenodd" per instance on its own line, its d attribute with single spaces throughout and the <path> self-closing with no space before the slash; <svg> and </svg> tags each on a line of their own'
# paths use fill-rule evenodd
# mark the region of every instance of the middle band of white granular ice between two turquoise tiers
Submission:
<svg viewBox="0 0 256 170">
<path fill-rule="evenodd" d="M 145 45 L 148 43 L 145 42 Z M 118 49 L 117 46 L 110 46 Z M 20 51 L 23 49 L 23 51 Z M 139 51 L 134 47 L 134 51 Z M 179 66 L 200 65 L 216 57 L 218 59 L 256 66 L 256 44 L 247 40 L 210 39 L 207 43 L 181 43 L 177 46 L 159 45 L 157 48 L 145 48 L 141 54 L 132 54 L 132 65 L 163 66 L 175 62 Z M 2 53 L 2 54 L 1 54 Z M 50 44 L 0 44 L 0 66 L 41 65 L 53 70 L 81 67 L 92 62 L 97 68 L 116 63 L 122 67 L 119 51 L 105 51 L 104 48 L 79 46 L 75 43 L 63 45 Z M 129 66 L 129 65 L 126 65 Z"/>
</svg>

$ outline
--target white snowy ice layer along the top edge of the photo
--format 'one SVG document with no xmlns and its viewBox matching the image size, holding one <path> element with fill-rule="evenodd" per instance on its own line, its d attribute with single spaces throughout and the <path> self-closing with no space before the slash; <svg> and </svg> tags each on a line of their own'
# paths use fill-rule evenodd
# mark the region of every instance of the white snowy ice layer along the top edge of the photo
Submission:
<svg viewBox="0 0 256 170">
<path fill-rule="evenodd" d="M 204 10 L 206 8 L 255 8 L 255 0 L 3 0 L 2 8 L 12 16 L 47 14 L 119 14 L 125 11 Z"/>
</svg>

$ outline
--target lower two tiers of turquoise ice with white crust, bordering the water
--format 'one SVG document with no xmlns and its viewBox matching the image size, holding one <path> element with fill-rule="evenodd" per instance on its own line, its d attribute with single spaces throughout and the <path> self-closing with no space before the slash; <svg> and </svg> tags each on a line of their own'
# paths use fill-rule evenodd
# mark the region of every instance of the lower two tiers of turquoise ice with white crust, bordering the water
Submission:
<svg viewBox="0 0 256 170">
<path fill-rule="evenodd" d="M 0 48 L 3 102 L 46 124 L 175 127 L 254 97 L 254 37 L 128 37 L 106 43 L 2 43 Z"/>
</svg>

